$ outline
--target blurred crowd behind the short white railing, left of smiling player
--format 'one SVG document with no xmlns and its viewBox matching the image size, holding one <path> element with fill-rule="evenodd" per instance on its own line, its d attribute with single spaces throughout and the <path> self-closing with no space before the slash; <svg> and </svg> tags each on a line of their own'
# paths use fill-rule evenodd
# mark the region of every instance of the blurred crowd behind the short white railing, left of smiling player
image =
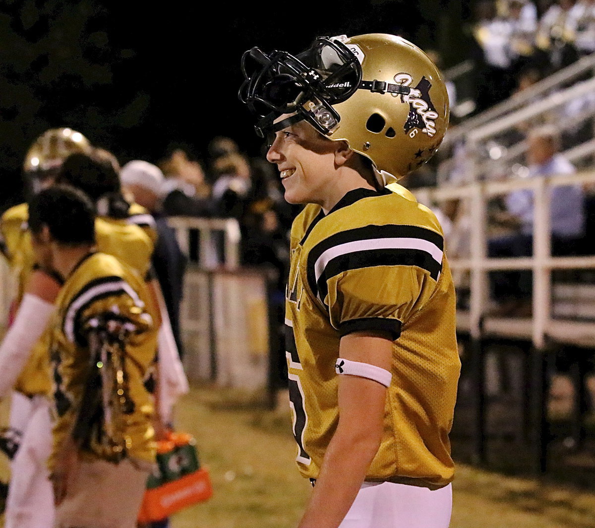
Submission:
<svg viewBox="0 0 595 528">
<path fill-rule="evenodd" d="M 204 162 L 184 149 L 173 149 L 154 165 L 125 164 L 124 190 L 139 205 L 165 217 L 235 218 L 242 235 L 240 263 L 267 264 L 284 277 L 287 232 L 296 210 L 283 199 L 277 170 L 264 157 L 248 157 L 231 138 L 212 139 L 207 151 Z M 152 187 L 149 199 L 146 182 Z M 192 244 L 193 260 L 198 260 L 196 251 L 198 244 Z"/>
</svg>

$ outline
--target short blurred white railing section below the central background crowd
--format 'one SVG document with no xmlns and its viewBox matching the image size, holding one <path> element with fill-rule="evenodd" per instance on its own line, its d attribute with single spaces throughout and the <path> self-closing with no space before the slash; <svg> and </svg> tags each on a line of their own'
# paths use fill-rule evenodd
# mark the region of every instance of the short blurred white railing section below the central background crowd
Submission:
<svg viewBox="0 0 595 528">
<path fill-rule="evenodd" d="M 236 269 L 240 265 L 240 226 L 235 218 L 170 217 L 167 223 L 176 231 L 180 249 L 190 254 L 193 230 L 199 234 L 199 265 L 205 269 L 225 267 Z M 223 234 L 223 248 L 219 247 L 217 233 Z M 219 251 L 223 249 L 223 254 Z M 221 258 L 223 257 L 223 262 Z"/>
</svg>

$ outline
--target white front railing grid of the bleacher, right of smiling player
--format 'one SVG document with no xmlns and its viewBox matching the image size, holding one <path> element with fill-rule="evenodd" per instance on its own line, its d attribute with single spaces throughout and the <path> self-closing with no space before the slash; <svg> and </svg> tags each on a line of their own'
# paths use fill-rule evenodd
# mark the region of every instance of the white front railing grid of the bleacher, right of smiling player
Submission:
<svg viewBox="0 0 595 528">
<path fill-rule="evenodd" d="M 450 267 L 470 274 L 469 313 L 465 314 L 469 332 L 475 338 L 482 334 L 482 324 L 488 306 L 488 272 L 494 270 L 533 270 L 533 317 L 529 321 L 530 338 L 538 348 L 543 348 L 547 338 L 558 338 L 568 342 L 593 340 L 595 345 L 595 323 L 577 323 L 552 318 L 552 270 L 594 269 L 595 255 L 584 257 L 552 257 L 550 229 L 550 190 L 557 186 L 593 185 L 595 171 L 570 176 L 534 177 L 508 182 L 469 183 L 458 188 L 425 188 L 415 190 L 418 200 L 429 207 L 441 202 L 460 198 L 469 201 L 468 211 L 471 240 L 470 254 L 449 258 Z M 534 233 L 533 257 L 488 258 L 487 254 L 487 202 L 493 196 L 503 195 L 516 189 L 533 190 Z M 445 246 L 447 255 L 448 239 Z M 595 247 L 594 247 L 595 251 Z M 513 328 L 509 327 L 509 332 Z M 580 332 L 580 336 L 572 335 Z M 506 333 L 506 329 L 503 333 Z M 554 335 L 557 334 L 557 335 Z"/>
</svg>

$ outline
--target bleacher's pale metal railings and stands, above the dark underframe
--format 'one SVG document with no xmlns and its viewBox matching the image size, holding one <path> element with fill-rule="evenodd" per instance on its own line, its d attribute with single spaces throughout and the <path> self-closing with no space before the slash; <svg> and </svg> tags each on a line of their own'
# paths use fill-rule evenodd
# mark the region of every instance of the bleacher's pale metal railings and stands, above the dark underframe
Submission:
<svg viewBox="0 0 595 528">
<path fill-rule="evenodd" d="M 466 280 L 460 288 L 469 288 L 469 306 L 459 313 L 459 325 L 479 335 L 480 324 L 499 327 L 486 321 L 488 307 L 487 273 L 490 270 L 531 269 L 534 272 L 534 310 L 531 320 L 502 325 L 503 335 L 519 332 L 543 346 L 547 338 L 568 342 L 591 342 L 595 338 L 595 285 L 580 280 L 552 283 L 556 270 L 573 270 L 574 277 L 592 277 L 583 273 L 595 269 L 595 249 L 590 251 L 590 225 L 583 244 L 583 255 L 552 257 L 549 227 L 549 189 L 561 185 L 581 185 L 587 190 L 588 213 L 593 214 L 590 195 L 595 189 L 595 55 L 583 58 L 566 70 L 542 80 L 538 85 L 486 113 L 447 132 L 446 151 L 456 152 L 441 161 L 436 188 L 415 190 L 419 201 L 440 207 L 441 203 L 460 199 L 462 215 L 472 221 L 453 224 L 453 229 L 468 226 L 471 244 L 467 254 L 450 255 L 455 276 Z M 585 77 L 587 77 L 585 79 Z M 553 176 L 527 179 L 524 154 L 525 131 L 540 124 L 556 124 L 562 136 L 563 154 L 577 166 L 577 176 Z M 491 231 L 488 204 L 496 196 L 513 189 L 534 190 L 534 256 L 533 258 L 488 259 L 487 238 Z M 588 218 L 589 221 L 589 218 Z M 448 240 L 446 241 L 448 247 Z M 562 277 L 571 274 L 559 273 Z M 565 280 L 565 279 L 563 279 Z M 562 323 L 566 318 L 565 322 Z M 519 330 L 522 327 L 522 331 Z"/>
</svg>

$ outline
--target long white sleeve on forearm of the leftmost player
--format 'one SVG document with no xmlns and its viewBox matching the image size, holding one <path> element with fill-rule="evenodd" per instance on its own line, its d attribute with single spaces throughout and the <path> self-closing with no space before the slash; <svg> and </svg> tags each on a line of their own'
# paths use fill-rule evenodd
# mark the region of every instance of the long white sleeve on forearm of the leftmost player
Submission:
<svg viewBox="0 0 595 528">
<path fill-rule="evenodd" d="M 32 293 L 24 295 L 0 345 L 0 398 L 4 398 L 14 387 L 53 313 L 54 305 L 50 302 Z"/>
</svg>

